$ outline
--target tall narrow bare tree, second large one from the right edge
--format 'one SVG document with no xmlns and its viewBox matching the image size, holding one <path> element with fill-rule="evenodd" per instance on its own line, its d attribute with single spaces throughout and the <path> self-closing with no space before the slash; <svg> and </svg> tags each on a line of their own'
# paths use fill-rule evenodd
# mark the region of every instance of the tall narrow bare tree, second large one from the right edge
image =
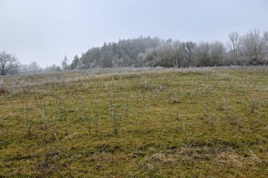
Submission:
<svg viewBox="0 0 268 178">
<path fill-rule="evenodd" d="M 238 32 L 231 32 L 228 37 L 229 39 L 226 42 L 226 46 L 232 54 L 231 57 L 234 60 L 234 63 L 236 63 L 238 60 L 238 51 L 240 50 L 241 37 Z"/>
</svg>

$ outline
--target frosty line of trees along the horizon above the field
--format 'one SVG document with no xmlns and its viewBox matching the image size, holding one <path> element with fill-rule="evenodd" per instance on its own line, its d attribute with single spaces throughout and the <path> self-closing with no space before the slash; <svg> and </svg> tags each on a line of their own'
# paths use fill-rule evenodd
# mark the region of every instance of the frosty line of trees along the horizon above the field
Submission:
<svg viewBox="0 0 268 178">
<path fill-rule="evenodd" d="M 214 42 L 181 42 L 158 37 L 120 39 L 92 47 L 70 64 L 64 57 L 61 67 L 51 65 L 40 68 L 36 62 L 20 65 L 16 56 L 0 53 L 0 75 L 16 73 L 59 72 L 62 70 L 86 70 L 92 68 L 164 67 L 189 68 L 221 65 L 268 65 L 268 32 L 257 29 L 246 34 L 231 32 L 224 44 Z"/>
</svg>

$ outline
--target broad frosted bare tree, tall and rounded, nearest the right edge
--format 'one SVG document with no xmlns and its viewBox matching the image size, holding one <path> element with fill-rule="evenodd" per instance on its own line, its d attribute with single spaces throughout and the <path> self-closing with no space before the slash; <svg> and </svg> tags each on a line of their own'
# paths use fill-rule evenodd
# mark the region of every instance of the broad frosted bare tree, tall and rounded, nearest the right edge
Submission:
<svg viewBox="0 0 268 178">
<path fill-rule="evenodd" d="M 243 36 L 243 51 L 248 56 L 250 63 L 257 61 L 264 49 L 264 40 L 259 30 L 250 30 Z"/>
</svg>

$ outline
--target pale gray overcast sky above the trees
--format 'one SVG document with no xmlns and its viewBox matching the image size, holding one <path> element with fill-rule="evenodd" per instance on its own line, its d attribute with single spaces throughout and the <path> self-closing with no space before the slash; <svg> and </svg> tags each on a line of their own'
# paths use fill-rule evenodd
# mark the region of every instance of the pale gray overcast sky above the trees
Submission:
<svg viewBox="0 0 268 178">
<path fill-rule="evenodd" d="M 234 30 L 268 30 L 267 9 L 267 0 L 0 0 L 0 51 L 45 67 L 141 34 L 226 42 Z"/>
</svg>

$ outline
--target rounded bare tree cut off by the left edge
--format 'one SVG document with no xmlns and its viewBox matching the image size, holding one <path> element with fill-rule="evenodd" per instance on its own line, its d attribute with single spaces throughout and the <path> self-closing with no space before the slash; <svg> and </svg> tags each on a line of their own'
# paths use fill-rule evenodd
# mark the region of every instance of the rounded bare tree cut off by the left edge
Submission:
<svg viewBox="0 0 268 178">
<path fill-rule="evenodd" d="M 0 75 L 8 75 L 16 72 L 19 67 L 16 56 L 13 56 L 6 51 L 0 53 Z"/>
</svg>

